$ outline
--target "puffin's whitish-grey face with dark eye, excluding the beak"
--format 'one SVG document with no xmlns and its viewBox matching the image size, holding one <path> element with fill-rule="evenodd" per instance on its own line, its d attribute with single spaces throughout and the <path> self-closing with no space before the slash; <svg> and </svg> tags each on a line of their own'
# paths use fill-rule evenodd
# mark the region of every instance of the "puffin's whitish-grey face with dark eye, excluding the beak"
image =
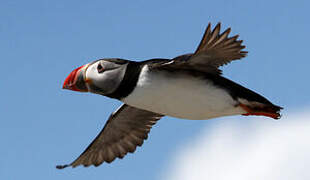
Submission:
<svg viewBox="0 0 310 180">
<path fill-rule="evenodd" d="M 102 95 L 114 92 L 123 80 L 126 68 L 126 62 L 102 59 L 92 63 L 85 72 L 89 91 Z"/>
</svg>

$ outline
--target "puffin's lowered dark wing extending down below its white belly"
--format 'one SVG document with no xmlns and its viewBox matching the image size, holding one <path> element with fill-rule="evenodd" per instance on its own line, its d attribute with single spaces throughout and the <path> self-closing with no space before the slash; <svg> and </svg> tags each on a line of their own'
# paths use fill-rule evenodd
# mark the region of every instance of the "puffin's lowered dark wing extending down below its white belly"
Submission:
<svg viewBox="0 0 310 180">
<path fill-rule="evenodd" d="M 103 162 L 110 163 L 117 157 L 123 158 L 128 152 L 133 153 L 137 146 L 143 144 L 152 125 L 161 117 L 163 115 L 123 104 L 111 114 L 99 135 L 75 161 L 56 167 L 63 169 L 79 165 L 99 166 Z"/>
</svg>

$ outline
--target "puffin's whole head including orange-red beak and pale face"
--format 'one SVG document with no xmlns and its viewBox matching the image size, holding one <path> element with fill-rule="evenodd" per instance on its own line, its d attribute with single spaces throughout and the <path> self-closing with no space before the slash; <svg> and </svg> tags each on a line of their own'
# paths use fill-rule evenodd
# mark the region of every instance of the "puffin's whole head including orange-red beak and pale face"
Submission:
<svg viewBox="0 0 310 180">
<path fill-rule="evenodd" d="M 124 78 L 128 61 L 100 59 L 73 70 L 63 89 L 106 95 L 114 92 Z"/>
</svg>

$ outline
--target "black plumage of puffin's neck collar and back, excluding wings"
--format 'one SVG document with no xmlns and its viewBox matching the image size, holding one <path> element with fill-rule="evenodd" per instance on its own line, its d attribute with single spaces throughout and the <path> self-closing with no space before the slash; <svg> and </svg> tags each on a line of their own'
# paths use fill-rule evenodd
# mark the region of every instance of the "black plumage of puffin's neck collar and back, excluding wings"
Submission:
<svg viewBox="0 0 310 180">
<path fill-rule="evenodd" d="M 256 101 L 263 104 L 272 104 L 263 96 L 251 91 L 248 88 L 245 88 L 227 78 L 222 77 L 221 75 L 212 74 L 212 73 L 205 73 L 193 70 L 178 70 L 174 68 L 169 68 L 165 66 L 166 63 L 169 63 L 171 60 L 169 59 L 150 59 L 141 62 L 135 61 L 127 61 L 127 69 L 124 75 L 124 78 L 120 84 L 120 86 L 111 94 L 106 94 L 105 96 L 115 98 L 115 99 L 122 99 L 127 97 L 136 87 L 141 69 L 144 65 L 149 65 L 151 70 L 157 71 L 169 71 L 171 73 L 186 73 L 191 76 L 202 77 L 208 80 L 211 80 L 215 86 L 221 87 L 226 89 L 229 94 L 234 98 L 243 98 L 248 101 Z"/>
</svg>

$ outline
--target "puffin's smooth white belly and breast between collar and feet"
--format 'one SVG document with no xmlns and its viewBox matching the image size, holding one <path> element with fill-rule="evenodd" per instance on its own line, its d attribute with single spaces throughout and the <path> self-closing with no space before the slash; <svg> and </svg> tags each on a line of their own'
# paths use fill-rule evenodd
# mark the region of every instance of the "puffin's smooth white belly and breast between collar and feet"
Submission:
<svg viewBox="0 0 310 180">
<path fill-rule="evenodd" d="M 183 119 L 210 119 L 243 114 L 237 102 L 212 81 L 143 67 L 134 91 L 122 99 L 128 105 Z"/>
</svg>

